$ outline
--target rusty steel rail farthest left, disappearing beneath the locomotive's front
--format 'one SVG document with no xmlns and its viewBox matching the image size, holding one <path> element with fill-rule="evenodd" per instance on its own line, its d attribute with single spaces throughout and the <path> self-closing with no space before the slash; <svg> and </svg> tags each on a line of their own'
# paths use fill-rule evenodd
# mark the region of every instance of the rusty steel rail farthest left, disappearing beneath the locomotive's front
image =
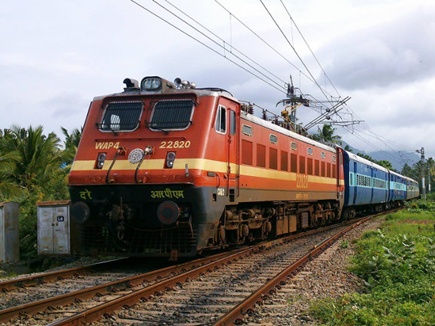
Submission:
<svg viewBox="0 0 435 326">
<path fill-rule="evenodd" d="M 123 262 L 123 261 L 126 261 L 127 259 L 128 258 L 126 258 L 126 257 L 118 258 L 118 259 L 111 259 L 111 260 L 106 260 L 106 261 L 102 261 L 102 262 L 95 263 L 95 264 L 89 264 L 89 265 L 80 266 L 80 267 L 62 269 L 62 270 L 57 270 L 57 271 L 52 271 L 52 272 L 47 272 L 47 273 L 39 273 L 36 275 L 30 275 L 30 276 L 26 276 L 26 277 L 20 277 L 20 278 L 15 278 L 12 280 L 3 281 L 3 282 L 0 282 L 0 292 L 7 292 L 7 291 L 13 290 L 15 288 L 22 288 L 22 287 L 26 287 L 26 286 L 39 285 L 39 284 L 43 284 L 45 282 L 56 282 L 58 280 L 62 280 L 62 279 L 67 278 L 67 277 L 77 276 L 77 275 L 83 274 L 83 273 L 85 273 L 87 271 L 91 271 L 93 269 L 104 268 L 104 267 L 110 266 L 110 265 L 118 263 L 118 262 Z"/>
</svg>

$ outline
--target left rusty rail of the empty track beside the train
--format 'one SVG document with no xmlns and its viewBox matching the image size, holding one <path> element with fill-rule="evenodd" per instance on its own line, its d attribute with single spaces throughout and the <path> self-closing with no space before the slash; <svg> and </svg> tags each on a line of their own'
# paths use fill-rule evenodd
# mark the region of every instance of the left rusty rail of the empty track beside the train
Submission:
<svg viewBox="0 0 435 326">
<path fill-rule="evenodd" d="M 149 297 L 151 297 L 154 294 L 162 293 L 177 284 L 180 284 L 182 282 L 185 282 L 189 279 L 192 279 L 194 277 L 200 276 L 207 271 L 211 271 L 214 269 L 218 269 L 223 265 L 229 264 L 233 261 L 239 260 L 245 256 L 249 256 L 251 254 L 257 253 L 265 248 L 271 248 L 273 246 L 289 242 L 291 240 L 302 238 L 306 236 L 310 236 L 313 234 L 321 233 L 326 230 L 336 228 L 341 226 L 341 224 L 334 224 L 329 225 L 326 227 L 322 227 L 319 229 L 309 230 L 306 232 L 298 233 L 289 235 L 287 237 L 276 239 L 268 242 L 262 242 L 259 244 L 256 244 L 254 246 L 250 246 L 245 249 L 238 249 L 235 253 L 234 251 L 227 252 L 227 255 L 222 254 L 223 257 L 216 260 L 216 257 L 211 259 L 212 261 L 204 264 L 200 267 L 194 268 L 190 271 L 184 272 L 182 274 L 178 274 L 176 276 L 164 279 L 158 283 L 152 284 L 150 286 L 144 287 L 142 289 L 134 290 L 129 294 L 123 295 L 119 298 L 110 300 L 108 302 L 102 303 L 98 306 L 92 307 L 90 309 L 84 310 L 82 312 L 76 313 L 72 316 L 66 317 L 64 319 L 60 319 L 57 321 L 54 321 L 53 323 L 49 324 L 50 326 L 59 326 L 59 325 L 82 325 L 82 324 L 88 324 L 93 321 L 98 320 L 101 316 L 106 314 L 111 314 L 114 311 L 123 308 L 128 307 L 136 304 L 140 300 L 145 300 Z M 212 258 L 212 257 L 210 257 Z M 1 312 L 0 312 L 1 313 Z"/>
</svg>

